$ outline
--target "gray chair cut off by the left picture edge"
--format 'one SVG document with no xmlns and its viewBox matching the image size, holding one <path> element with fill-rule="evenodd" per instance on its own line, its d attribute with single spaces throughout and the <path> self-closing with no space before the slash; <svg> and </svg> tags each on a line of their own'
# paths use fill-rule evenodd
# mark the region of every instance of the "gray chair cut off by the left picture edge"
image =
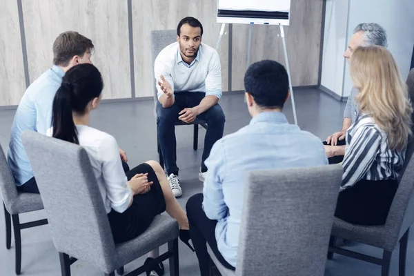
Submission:
<svg viewBox="0 0 414 276">
<path fill-rule="evenodd" d="M 15 273 L 21 273 L 21 235 L 22 229 L 32 228 L 48 224 L 47 219 L 29 221 L 21 224 L 19 214 L 42 210 L 43 203 L 40 195 L 32 193 L 20 193 L 17 191 L 12 172 L 0 145 L 0 190 L 3 194 L 4 217 L 6 220 L 6 248 L 10 249 L 12 243 L 12 225 L 14 230 Z M 11 215 L 11 219 L 10 219 Z"/>
</svg>

